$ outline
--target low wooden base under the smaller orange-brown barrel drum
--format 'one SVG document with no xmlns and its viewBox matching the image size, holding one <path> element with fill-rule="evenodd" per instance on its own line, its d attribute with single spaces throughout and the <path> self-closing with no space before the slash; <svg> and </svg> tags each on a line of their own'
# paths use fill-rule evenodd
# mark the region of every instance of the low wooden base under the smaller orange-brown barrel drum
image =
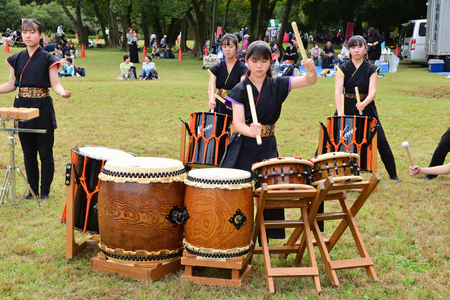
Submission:
<svg viewBox="0 0 450 300">
<path fill-rule="evenodd" d="M 181 264 L 185 266 L 181 280 L 189 280 L 194 283 L 203 283 L 214 286 L 241 286 L 250 275 L 252 266 L 249 264 L 251 252 L 245 256 L 224 259 L 201 258 L 188 252 L 183 253 Z M 194 267 L 207 267 L 231 270 L 231 279 L 201 277 L 194 275 Z"/>
</svg>

